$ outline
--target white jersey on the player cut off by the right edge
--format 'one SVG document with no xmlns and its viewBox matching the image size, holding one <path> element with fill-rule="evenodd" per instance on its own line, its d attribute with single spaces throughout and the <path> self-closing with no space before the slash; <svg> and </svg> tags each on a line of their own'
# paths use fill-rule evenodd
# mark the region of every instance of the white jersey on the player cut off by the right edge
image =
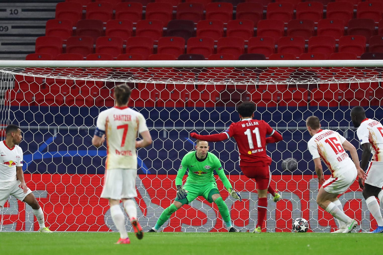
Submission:
<svg viewBox="0 0 383 255">
<path fill-rule="evenodd" d="M 383 161 L 383 125 L 377 120 L 364 119 L 357 130 L 360 144 L 370 143 L 372 161 Z"/>
</svg>

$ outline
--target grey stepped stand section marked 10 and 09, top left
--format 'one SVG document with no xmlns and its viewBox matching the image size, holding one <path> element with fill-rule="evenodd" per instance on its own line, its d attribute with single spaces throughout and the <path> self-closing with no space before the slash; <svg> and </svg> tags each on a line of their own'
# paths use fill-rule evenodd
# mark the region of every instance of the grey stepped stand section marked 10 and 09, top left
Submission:
<svg viewBox="0 0 383 255">
<path fill-rule="evenodd" d="M 0 60 L 24 60 L 63 0 L 0 0 Z"/>
</svg>

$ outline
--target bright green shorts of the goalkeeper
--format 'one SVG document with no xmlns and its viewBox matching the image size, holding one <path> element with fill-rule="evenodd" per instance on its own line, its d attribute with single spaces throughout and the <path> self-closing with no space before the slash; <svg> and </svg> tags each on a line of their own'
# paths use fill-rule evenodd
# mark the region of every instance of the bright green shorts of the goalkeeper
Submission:
<svg viewBox="0 0 383 255">
<path fill-rule="evenodd" d="M 198 196 L 202 196 L 208 200 L 209 203 L 213 203 L 213 199 L 211 197 L 214 194 L 219 194 L 216 182 L 208 182 L 206 184 L 192 184 L 185 182 L 183 188 L 188 191 L 187 197 L 182 200 L 175 198 L 175 201 L 182 203 L 182 205 L 190 203 Z"/>
</svg>

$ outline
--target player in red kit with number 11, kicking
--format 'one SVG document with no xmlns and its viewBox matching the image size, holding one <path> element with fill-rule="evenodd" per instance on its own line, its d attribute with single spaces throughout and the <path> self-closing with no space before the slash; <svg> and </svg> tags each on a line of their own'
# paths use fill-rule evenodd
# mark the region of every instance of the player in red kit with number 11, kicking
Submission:
<svg viewBox="0 0 383 255">
<path fill-rule="evenodd" d="M 239 166 L 244 175 L 255 179 L 258 192 L 258 222 L 254 233 L 262 232 L 262 225 L 267 211 L 267 191 L 274 201 L 280 200 L 280 195 L 270 187 L 271 158 L 266 154 L 266 145 L 282 141 L 282 135 L 273 130 L 264 120 L 254 118 L 255 104 L 242 102 L 237 107 L 241 121 L 231 123 L 228 130 L 214 135 L 198 135 L 190 133 L 192 138 L 216 142 L 234 137 L 239 151 Z M 269 135 L 268 137 L 266 137 Z"/>
</svg>

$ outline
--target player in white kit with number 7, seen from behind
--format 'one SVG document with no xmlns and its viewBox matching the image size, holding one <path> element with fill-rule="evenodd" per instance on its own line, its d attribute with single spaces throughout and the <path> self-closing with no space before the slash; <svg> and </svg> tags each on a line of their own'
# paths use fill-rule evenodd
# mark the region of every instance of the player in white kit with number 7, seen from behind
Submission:
<svg viewBox="0 0 383 255">
<path fill-rule="evenodd" d="M 109 199 L 110 214 L 119 233 L 117 244 L 129 244 L 125 230 L 124 214 L 119 207 L 122 200 L 134 232 L 142 239 L 142 228 L 137 221 L 136 204 L 132 198 L 137 197 L 137 152 L 152 143 L 152 137 L 142 114 L 128 107 L 131 90 L 126 83 L 115 87 L 115 107 L 100 112 L 92 144 L 100 147 L 106 140 L 105 180 L 101 193 L 102 198 Z M 136 141 L 138 133 L 142 140 Z"/>
</svg>

